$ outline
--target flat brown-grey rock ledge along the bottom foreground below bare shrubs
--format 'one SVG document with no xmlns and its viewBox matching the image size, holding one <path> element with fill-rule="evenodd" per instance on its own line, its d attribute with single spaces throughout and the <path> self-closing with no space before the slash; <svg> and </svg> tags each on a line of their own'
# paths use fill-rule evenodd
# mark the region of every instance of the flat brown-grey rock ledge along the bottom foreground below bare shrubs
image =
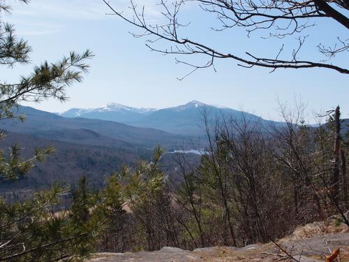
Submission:
<svg viewBox="0 0 349 262">
<path fill-rule="evenodd" d="M 325 261 L 324 254 L 329 250 L 341 249 L 341 259 L 349 258 L 349 233 L 318 235 L 298 240 L 281 240 L 279 245 L 292 254 L 299 262 Z M 276 261 L 284 254 L 279 247 L 269 243 L 246 247 L 205 247 L 188 251 L 177 247 L 163 247 L 156 252 L 101 253 L 95 254 L 90 262 L 186 262 L 186 261 Z"/>
</svg>

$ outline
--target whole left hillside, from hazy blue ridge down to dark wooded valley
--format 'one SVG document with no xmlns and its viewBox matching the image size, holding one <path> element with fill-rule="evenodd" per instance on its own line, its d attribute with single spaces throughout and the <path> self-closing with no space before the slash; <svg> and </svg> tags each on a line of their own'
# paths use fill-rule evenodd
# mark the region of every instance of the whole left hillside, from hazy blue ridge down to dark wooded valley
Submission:
<svg viewBox="0 0 349 262">
<path fill-rule="evenodd" d="M 133 165 L 140 159 L 151 159 L 156 145 L 172 151 L 189 144 L 188 137 L 157 129 L 128 126 L 112 121 L 67 118 L 34 108 L 19 106 L 26 117 L 3 119 L 0 129 L 6 133 L 0 150 L 8 152 L 15 143 L 22 149 L 24 159 L 34 156 L 36 147 L 53 146 L 57 153 L 46 163 L 38 163 L 20 181 L 3 182 L 1 190 L 19 191 L 45 188 L 54 181 L 77 182 L 82 175 L 96 187 L 105 177 Z M 171 159 L 167 160 L 171 163 Z M 167 165 L 169 166 L 169 165 Z"/>
</svg>

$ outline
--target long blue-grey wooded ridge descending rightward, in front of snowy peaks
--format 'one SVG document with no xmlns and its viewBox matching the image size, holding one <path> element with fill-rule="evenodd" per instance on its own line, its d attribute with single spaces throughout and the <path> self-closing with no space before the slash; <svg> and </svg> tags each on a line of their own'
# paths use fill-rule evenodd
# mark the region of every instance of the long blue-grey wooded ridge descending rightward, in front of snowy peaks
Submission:
<svg viewBox="0 0 349 262">
<path fill-rule="evenodd" d="M 20 122 L 18 119 L 4 119 L 0 122 L 0 129 L 12 131 L 15 133 L 27 133 L 45 138 L 59 138 L 57 131 L 66 130 L 66 134 L 61 133 L 62 139 L 69 139 L 69 129 L 88 129 L 102 136 L 108 136 L 114 140 L 122 140 L 126 143 L 141 145 L 144 147 L 154 147 L 161 143 L 166 147 L 175 147 L 183 145 L 186 136 L 174 135 L 158 129 L 137 128 L 111 121 L 84 118 L 66 118 L 36 110 L 30 107 L 19 106 L 18 110 L 13 108 L 17 114 L 24 114 L 25 121 Z M 83 136 L 83 135 L 82 135 Z M 70 140 L 75 140 L 74 136 Z M 77 143 L 79 140 L 75 140 Z M 111 142 L 113 143 L 113 142 Z"/>
</svg>

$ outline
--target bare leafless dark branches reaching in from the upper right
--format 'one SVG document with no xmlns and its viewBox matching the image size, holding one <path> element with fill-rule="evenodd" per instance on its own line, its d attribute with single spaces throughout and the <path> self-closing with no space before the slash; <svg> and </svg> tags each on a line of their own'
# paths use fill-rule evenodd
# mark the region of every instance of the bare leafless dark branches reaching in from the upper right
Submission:
<svg viewBox="0 0 349 262">
<path fill-rule="evenodd" d="M 339 73 L 349 73 L 348 67 L 331 63 L 331 59 L 340 54 L 348 55 L 349 38 L 337 37 L 332 46 L 318 44 L 318 61 L 302 59 L 299 54 L 306 41 L 306 29 L 315 26 L 320 20 L 332 22 L 333 31 L 349 29 L 349 1 L 348 0 L 161 0 L 161 15 L 165 22 L 151 24 L 147 22 L 144 6 L 140 7 L 131 0 L 133 15 L 128 16 L 110 1 L 103 0 L 112 11 L 135 27 L 143 29 L 142 34 L 133 34 L 136 37 L 147 36 L 147 46 L 154 51 L 163 54 L 203 54 L 209 59 L 203 64 L 193 64 L 190 61 L 177 60 L 193 67 L 193 71 L 199 68 L 214 67 L 214 61 L 219 58 L 233 59 L 239 66 L 251 68 L 262 66 L 270 68 L 328 68 Z M 233 27 L 246 29 L 248 37 L 251 32 L 257 30 L 267 31 L 267 38 L 285 38 L 294 36 L 298 40 L 297 47 L 292 54 L 285 56 L 284 45 L 276 50 L 274 57 L 264 57 L 263 54 L 252 54 L 246 50 L 245 55 L 236 54 L 235 50 L 225 52 L 195 41 L 191 37 L 182 37 L 181 29 L 187 27 L 179 21 L 179 14 L 186 4 L 195 4 L 198 8 L 215 15 L 220 22 L 216 31 L 223 31 Z M 330 21 L 332 20 L 332 21 Z M 334 21 L 334 22 L 333 22 Z M 346 28 L 346 29 L 345 29 Z M 325 34 L 324 34 L 325 36 Z M 158 48 L 155 45 L 159 41 L 171 44 L 170 48 Z M 161 44 L 164 46 L 165 44 Z M 286 58 L 283 58 L 286 57 Z M 192 72 L 193 72 L 192 71 Z"/>
</svg>

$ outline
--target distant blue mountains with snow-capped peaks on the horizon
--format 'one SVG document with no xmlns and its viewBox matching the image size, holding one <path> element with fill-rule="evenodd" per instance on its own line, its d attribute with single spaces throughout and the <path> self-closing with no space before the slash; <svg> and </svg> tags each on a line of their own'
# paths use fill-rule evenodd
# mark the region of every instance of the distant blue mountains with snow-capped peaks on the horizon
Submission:
<svg viewBox="0 0 349 262">
<path fill-rule="evenodd" d="M 173 108 L 132 108 L 118 103 L 108 103 L 102 108 L 72 108 L 59 115 L 62 117 L 83 117 L 120 122 L 131 126 L 159 129 L 169 133 L 200 136 L 202 128 L 202 112 L 206 110 L 209 118 L 224 115 L 237 122 L 246 117 L 250 121 L 269 124 L 271 121 L 262 119 L 247 112 L 215 105 L 207 105 L 199 101 L 191 101 Z"/>
</svg>

